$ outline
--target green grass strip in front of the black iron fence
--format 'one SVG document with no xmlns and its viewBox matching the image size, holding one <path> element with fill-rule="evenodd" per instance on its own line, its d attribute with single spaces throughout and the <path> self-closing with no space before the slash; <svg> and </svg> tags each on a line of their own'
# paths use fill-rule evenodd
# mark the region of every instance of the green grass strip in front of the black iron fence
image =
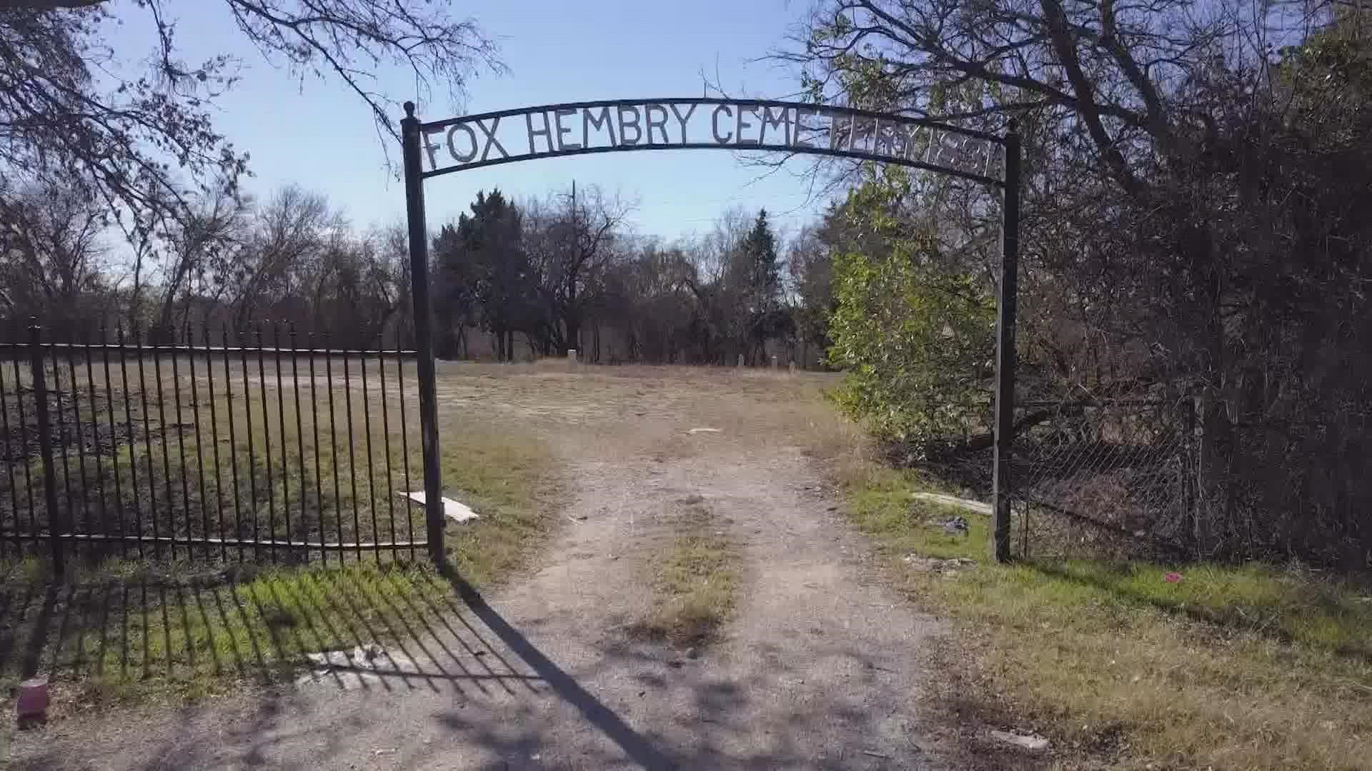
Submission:
<svg viewBox="0 0 1372 771">
<path fill-rule="evenodd" d="M 289 678 L 307 653 L 403 645 L 449 597 L 427 568 L 366 561 L 200 575 L 115 562 L 66 583 L 7 580 L 0 679 L 49 672 L 63 709 L 224 693 Z"/>
</svg>

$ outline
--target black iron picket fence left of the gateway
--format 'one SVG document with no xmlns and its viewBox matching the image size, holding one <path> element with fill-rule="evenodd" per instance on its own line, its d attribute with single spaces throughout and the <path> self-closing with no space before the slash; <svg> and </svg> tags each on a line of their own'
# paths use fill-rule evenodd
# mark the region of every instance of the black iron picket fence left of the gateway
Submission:
<svg viewBox="0 0 1372 771">
<path fill-rule="evenodd" d="M 398 336 L 344 350 L 280 327 L 14 328 L 0 558 L 412 560 L 427 545 L 406 497 L 423 490 L 413 388 Z"/>
</svg>

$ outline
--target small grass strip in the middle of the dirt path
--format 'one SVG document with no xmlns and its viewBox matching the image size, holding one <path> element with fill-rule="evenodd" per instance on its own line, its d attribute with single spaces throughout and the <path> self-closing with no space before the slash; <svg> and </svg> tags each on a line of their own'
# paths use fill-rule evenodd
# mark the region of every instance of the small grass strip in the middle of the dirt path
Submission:
<svg viewBox="0 0 1372 771">
<path fill-rule="evenodd" d="M 734 609 L 738 573 L 734 545 L 708 528 L 697 509 L 657 564 L 654 604 L 634 631 L 678 646 L 712 642 Z"/>
</svg>

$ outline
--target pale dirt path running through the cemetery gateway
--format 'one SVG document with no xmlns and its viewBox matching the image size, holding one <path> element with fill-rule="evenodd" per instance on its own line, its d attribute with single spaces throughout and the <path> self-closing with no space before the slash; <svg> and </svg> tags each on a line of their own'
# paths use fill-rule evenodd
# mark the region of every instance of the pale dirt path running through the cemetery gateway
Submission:
<svg viewBox="0 0 1372 771">
<path fill-rule="evenodd" d="M 941 630 L 868 572 L 837 519 L 804 450 L 830 429 L 816 381 L 646 368 L 440 377 L 445 410 L 519 420 L 565 464 L 565 524 L 528 576 L 488 605 L 435 613 L 403 650 L 416 664 L 394 675 L 148 711 L 136 730 L 129 716 L 58 724 L 30 767 L 943 767 L 922 653 Z M 742 580 L 720 642 L 681 652 L 627 628 L 652 598 L 645 562 L 697 495 L 741 545 Z"/>
</svg>

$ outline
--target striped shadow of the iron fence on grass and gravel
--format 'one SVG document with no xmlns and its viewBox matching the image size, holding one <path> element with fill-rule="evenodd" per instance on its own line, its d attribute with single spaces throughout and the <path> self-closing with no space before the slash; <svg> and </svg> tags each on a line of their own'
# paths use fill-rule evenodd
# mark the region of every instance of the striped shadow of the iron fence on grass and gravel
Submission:
<svg viewBox="0 0 1372 771">
<path fill-rule="evenodd" d="M 10 567 L 0 582 L 0 683 L 48 675 L 59 713 L 244 680 L 513 691 L 541 679 L 469 623 L 446 582 L 417 568 L 29 573 Z M 333 654 L 321 665 L 320 653 Z"/>
</svg>

